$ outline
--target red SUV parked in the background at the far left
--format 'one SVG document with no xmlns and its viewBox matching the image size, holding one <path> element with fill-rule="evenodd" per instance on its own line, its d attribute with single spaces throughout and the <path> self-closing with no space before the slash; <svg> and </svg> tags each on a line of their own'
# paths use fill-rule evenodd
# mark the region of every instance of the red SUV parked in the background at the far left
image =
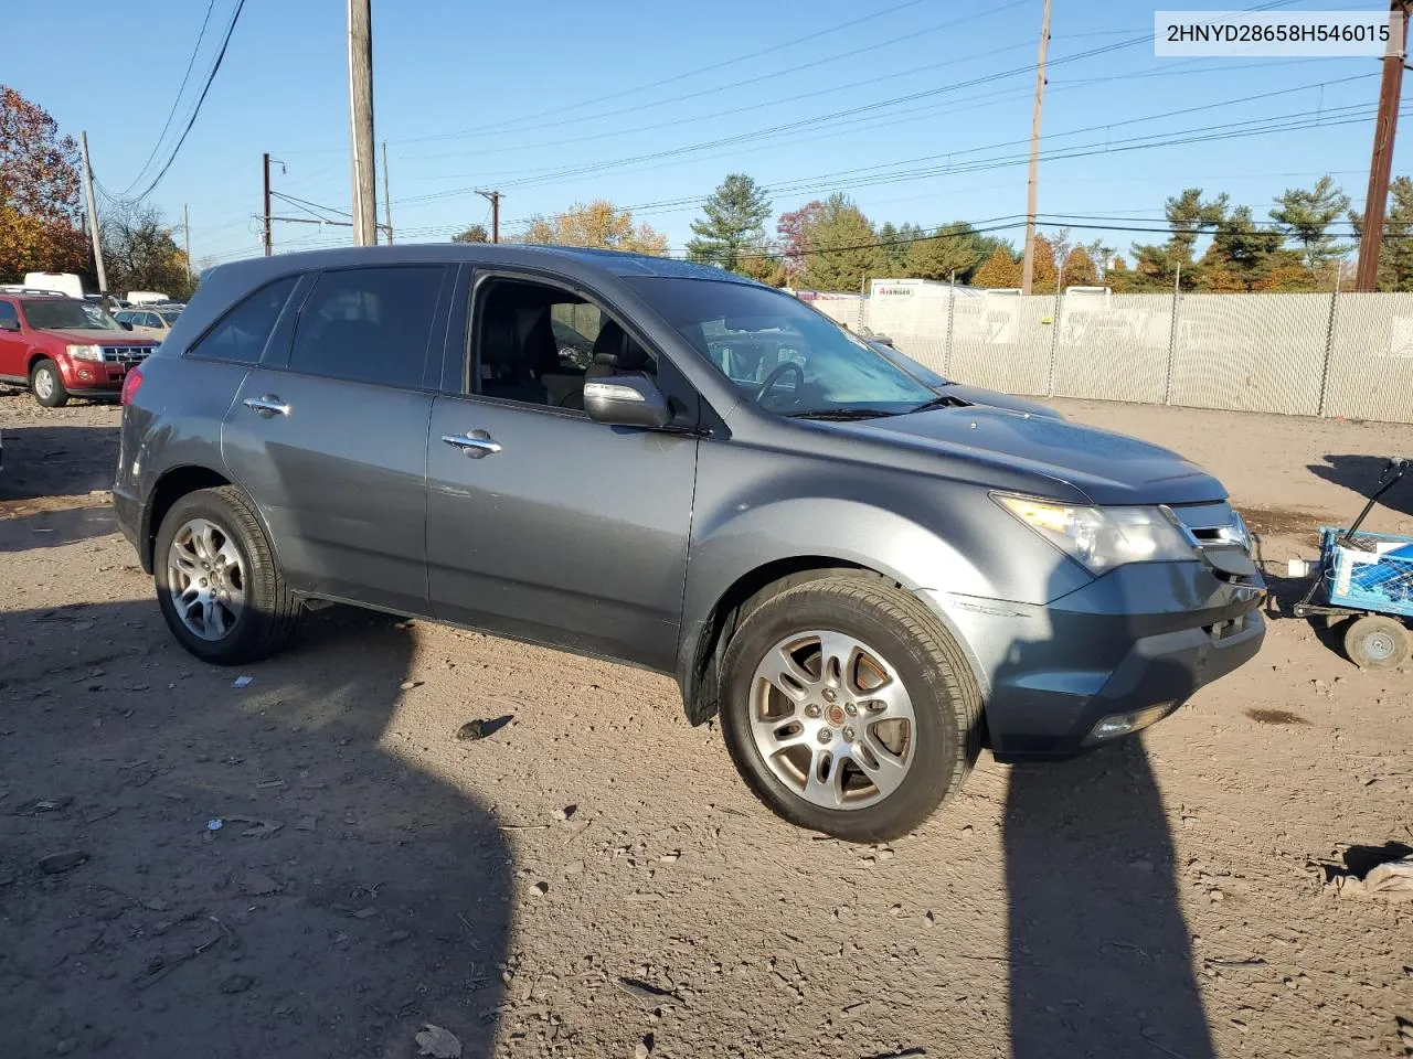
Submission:
<svg viewBox="0 0 1413 1059">
<path fill-rule="evenodd" d="M 0 288 L 0 381 L 28 387 L 45 408 L 117 400 L 127 370 L 155 345 L 90 302 Z"/>
</svg>

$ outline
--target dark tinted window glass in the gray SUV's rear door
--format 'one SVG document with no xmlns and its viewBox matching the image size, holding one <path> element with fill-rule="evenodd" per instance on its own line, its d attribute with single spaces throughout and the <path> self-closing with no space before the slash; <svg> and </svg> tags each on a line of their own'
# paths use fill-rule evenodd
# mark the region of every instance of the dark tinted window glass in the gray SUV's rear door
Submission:
<svg viewBox="0 0 1413 1059">
<path fill-rule="evenodd" d="M 300 311 L 290 370 L 420 387 L 442 274 L 441 265 L 325 273 Z"/>
</svg>

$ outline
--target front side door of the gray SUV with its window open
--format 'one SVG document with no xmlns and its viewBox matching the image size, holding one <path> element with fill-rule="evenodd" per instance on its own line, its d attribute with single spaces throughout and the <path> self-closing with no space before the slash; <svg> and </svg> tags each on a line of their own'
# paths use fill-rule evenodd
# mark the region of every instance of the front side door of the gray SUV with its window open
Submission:
<svg viewBox="0 0 1413 1059">
<path fill-rule="evenodd" d="M 434 616 L 670 671 L 697 476 L 695 394 L 656 350 L 636 346 L 636 366 L 675 390 L 682 424 L 593 422 L 560 393 L 562 378 L 544 378 L 562 374 L 550 322 L 575 306 L 577 330 L 596 350 L 632 335 L 630 322 L 568 284 L 506 273 L 472 284 L 463 271 L 447 340 L 451 393 L 432 405 L 427 452 Z"/>
</svg>

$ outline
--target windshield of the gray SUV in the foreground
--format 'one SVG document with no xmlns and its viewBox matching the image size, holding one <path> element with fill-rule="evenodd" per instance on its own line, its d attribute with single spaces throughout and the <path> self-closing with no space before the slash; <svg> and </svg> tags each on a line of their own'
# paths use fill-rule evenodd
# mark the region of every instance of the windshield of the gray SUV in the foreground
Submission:
<svg viewBox="0 0 1413 1059">
<path fill-rule="evenodd" d="M 935 398 L 863 339 L 783 291 L 718 280 L 627 282 L 743 398 L 767 411 L 893 415 Z"/>
</svg>

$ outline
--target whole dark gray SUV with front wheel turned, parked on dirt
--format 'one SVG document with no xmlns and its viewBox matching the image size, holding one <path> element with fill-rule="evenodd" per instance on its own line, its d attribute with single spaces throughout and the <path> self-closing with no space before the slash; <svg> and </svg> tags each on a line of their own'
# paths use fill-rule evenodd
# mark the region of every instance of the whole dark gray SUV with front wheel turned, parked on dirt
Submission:
<svg viewBox="0 0 1413 1059">
<path fill-rule="evenodd" d="M 674 674 L 763 802 L 844 839 L 911 830 L 982 747 L 1152 724 L 1265 634 L 1198 467 L 937 393 L 680 261 L 222 265 L 123 404 L 113 503 L 198 658 L 335 600 Z"/>
</svg>

